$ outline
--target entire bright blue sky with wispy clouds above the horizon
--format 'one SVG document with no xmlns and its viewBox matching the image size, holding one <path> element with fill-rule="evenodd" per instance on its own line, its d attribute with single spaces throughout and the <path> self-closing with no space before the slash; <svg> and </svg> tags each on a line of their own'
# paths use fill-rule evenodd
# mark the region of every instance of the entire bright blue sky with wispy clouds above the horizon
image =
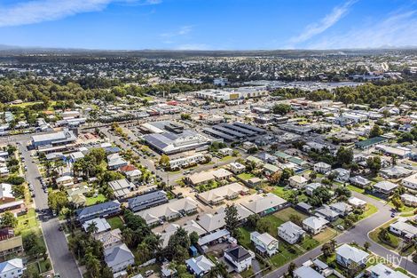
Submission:
<svg viewBox="0 0 417 278">
<path fill-rule="evenodd" d="M 106 50 L 417 46 L 417 0 L 0 0 L 0 44 Z"/>
</svg>

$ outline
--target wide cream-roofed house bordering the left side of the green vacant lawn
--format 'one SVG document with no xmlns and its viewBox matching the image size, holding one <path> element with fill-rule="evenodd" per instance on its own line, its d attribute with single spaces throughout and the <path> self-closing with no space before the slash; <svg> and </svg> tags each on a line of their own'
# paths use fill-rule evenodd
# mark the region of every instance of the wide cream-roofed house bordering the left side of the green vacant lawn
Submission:
<svg viewBox="0 0 417 278">
<path fill-rule="evenodd" d="M 277 195 L 268 193 L 266 195 L 254 195 L 249 201 L 243 202 L 241 205 L 260 216 L 264 216 L 284 208 L 287 201 Z"/>
</svg>

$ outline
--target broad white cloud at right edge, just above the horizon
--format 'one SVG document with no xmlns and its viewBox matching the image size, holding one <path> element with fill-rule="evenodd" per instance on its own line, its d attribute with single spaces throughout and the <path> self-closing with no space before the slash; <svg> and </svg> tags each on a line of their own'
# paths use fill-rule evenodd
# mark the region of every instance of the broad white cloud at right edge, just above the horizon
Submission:
<svg viewBox="0 0 417 278">
<path fill-rule="evenodd" d="M 396 12 L 344 34 L 324 36 L 311 49 L 379 48 L 417 45 L 417 10 Z"/>
</svg>

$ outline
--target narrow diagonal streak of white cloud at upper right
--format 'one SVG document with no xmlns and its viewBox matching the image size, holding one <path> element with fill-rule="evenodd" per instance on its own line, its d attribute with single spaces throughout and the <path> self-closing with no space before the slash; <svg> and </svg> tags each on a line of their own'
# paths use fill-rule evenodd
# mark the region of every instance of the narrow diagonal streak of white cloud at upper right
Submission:
<svg viewBox="0 0 417 278">
<path fill-rule="evenodd" d="M 300 35 L 292 37 L 290 39 L 290 43 L 303 43 L 310 40 L 313 36 L 317 36 L 326 31 L 328 28 L 331 28 L 334 24 L 341 20 L 347 12 L 349 12 L 350 6 L 355 4 L 355 2 L 356 0 L 349 0 L 340 6 L 334 7 L 332 12 L 328 13 L 323 19 L 319 20 L 319 22 L 308 25 L 304 28 Z"/>
</svg>

